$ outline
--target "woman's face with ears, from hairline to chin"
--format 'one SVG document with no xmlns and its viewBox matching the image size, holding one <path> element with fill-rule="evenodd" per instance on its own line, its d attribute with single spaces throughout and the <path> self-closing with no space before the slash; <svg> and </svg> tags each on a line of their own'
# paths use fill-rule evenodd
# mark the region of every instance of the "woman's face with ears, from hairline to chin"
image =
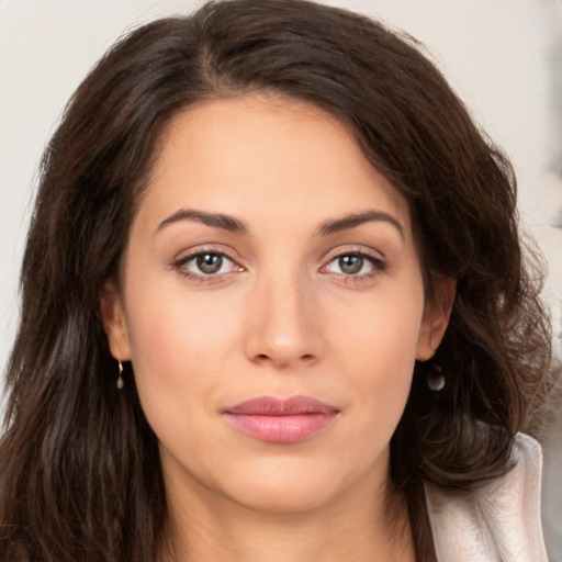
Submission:
<svg viewBox="0 0 562 562">
<path fill-rule="evenodd" d="M 414 361 L 446 327 L 401 195 L 334 117 L 266 95 L 171 121 L 105 289 L 169 495 L 216 505 L 382 490 Z"/>
</svg>

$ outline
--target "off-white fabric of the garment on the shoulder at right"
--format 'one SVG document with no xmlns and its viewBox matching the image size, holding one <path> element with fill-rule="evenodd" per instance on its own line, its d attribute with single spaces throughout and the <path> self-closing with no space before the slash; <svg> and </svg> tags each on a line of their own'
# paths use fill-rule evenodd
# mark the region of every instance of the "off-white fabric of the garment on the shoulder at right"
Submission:
<svg viewBox="0 0 562 562">
<path fill-rule="evenodd" d="M 540 520 L 542 454 L 517 435 L 513 468 L 471 491 L 426 483 L 426 501 L 439 562 L 548 562 Z"/>
</svg>

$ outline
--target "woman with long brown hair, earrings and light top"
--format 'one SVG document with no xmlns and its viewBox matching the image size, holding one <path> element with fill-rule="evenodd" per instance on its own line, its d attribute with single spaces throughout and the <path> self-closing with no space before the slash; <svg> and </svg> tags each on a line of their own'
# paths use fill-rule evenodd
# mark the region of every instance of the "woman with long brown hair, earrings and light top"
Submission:
<svg viewBox="0 0 562 562">
<path fill-rule="evenodd" d="M 295 0 L 131 33 L 43 160 L 0 558 L 543 560 L 531 273 L 409 41 Z"/>
</svg>

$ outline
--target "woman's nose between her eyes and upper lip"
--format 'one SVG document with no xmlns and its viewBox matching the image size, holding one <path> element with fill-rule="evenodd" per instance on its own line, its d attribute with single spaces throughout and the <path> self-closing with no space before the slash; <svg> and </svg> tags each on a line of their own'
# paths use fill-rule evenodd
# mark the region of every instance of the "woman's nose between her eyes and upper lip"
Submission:
<svg viewBox="0 0 562 562">
<path fill-rule="evenodd" d="M 312 364 L 323 347 L 313 291 L 297 274 L 272 277 L 261 280 L 251 296 L 246 355 L 252 362 L 277 369 Z"/>
</svg>

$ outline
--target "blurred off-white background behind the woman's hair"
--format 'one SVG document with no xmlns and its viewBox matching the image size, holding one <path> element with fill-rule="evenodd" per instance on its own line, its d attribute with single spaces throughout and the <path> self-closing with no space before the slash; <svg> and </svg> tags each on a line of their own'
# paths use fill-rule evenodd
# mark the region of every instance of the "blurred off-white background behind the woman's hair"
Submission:
<svg viewBox="0 0 562 562">
<path fill-rule="evenodd" d="M 0 369 L 18 322 L 18 276 L 40 157 L 66 101 L 125 30 L 195 0 L 0 0 Z M 527 232 L 546 255 L 543 295 L 562 359 L 562 1 L 324 1 L 383 20 L 427 48 L 519 180 Z M 543 439 L 543 519 L 562 561 L 562 407 Z"/>
</svg>

